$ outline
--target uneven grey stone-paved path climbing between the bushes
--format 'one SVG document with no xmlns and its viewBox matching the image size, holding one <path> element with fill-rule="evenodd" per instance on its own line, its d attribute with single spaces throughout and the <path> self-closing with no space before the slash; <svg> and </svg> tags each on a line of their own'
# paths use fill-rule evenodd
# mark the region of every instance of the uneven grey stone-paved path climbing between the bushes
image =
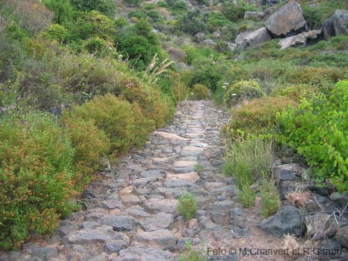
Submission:
<svg viewBox="0 0 348 261">
<path fill-rule="evenodd" d="M 188 240 L 205 251 L 207 246 L 228 249 L 238 240 L 262 242 L 262 237 L 246 240 L 258 217 L 232 200 L 233 180 L 220 174 L 219 130 L 227 120 L 212 102 L 181 102 L 171 125 L 122 159 L 116 175 L 104 172 L 91 184 L 81 198 L 86 210 L 62 221 L 50 239 L 28 243 L 22 252 L 0 253 L 0 260 L 171 261 Z M 203 166 L 200 173 L 196 164 Z M 177 212 L 177 198 L 185 190 L 198 200 L 196 219 L 189 223 Z"/>
</svg>

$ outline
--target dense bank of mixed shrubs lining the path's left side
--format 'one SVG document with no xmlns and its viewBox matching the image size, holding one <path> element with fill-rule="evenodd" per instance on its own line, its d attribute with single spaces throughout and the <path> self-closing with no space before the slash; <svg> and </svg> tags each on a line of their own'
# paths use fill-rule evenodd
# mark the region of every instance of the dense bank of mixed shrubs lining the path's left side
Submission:
<svg viewBox="0 0 348 261">
<path fill-rule="evenodd" d="M 52 233 L 100 157 L 144 144 L 185 95 L 145 19 L 114 19 L 113 1 L 43 4 L 1 5 L 3 249 Z"/>
</svg>

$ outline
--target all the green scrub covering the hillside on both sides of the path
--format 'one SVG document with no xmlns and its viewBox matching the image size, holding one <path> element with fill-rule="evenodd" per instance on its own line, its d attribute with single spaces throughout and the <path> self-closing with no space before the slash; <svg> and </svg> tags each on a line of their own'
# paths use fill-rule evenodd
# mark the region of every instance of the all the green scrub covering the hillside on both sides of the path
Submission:
<svg viewBox="0 0 348 261">
<path fill-rule="evenodd" d="M 348 8 L 310 2 L 299 1 L 313 29 Z M 100 158 L 143 145 L 184 98 L 230 108 L 224 171 L 246 207 L 259 182 L 262 214 L 276 212 L 270 168 L 280 145 L 306 158 L 313 180 L 348 189 L 348 36 L 283 51 L 278 39 L 231 48 L 238 33 L 263 26 L 244 19 L 260 7 L 195 3 L 1 1 L 0 248 L 52 233 L 79 209 L 74 198 Z M 196 199 L 181 204 L 190 219 Z"/>
</svg>

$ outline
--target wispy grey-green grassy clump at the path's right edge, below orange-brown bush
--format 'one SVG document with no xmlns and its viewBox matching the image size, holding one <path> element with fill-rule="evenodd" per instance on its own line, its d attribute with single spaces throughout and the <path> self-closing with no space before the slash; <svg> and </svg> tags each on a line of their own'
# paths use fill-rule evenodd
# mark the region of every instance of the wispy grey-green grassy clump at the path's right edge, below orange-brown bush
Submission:
<svg viewBox="0 0 348 261">
<path fill-rule="evenodd" d="M 273 146 L 268 139 L 235 141 L 229 145 L 223 173 L 235 178 L 237 188 L 246 190 L 260 177 L 269 173 L 273 164 Z"/>
</svg>

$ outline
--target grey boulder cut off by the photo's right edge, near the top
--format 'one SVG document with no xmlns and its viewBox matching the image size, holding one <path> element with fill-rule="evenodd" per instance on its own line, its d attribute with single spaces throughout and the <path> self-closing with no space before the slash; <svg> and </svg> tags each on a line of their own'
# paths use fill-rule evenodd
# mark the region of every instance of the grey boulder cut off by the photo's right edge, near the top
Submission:
<svg viewBox="0 0 348 261">
<path fill-rule="evenodd" d="M 335 13 L 322 23 L 324 38 L 327 40 L 340 34 L 348 34 L 348 10 L 335 10 Z"/>
</svg>

